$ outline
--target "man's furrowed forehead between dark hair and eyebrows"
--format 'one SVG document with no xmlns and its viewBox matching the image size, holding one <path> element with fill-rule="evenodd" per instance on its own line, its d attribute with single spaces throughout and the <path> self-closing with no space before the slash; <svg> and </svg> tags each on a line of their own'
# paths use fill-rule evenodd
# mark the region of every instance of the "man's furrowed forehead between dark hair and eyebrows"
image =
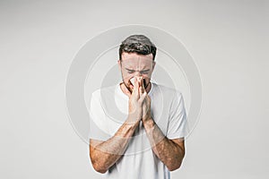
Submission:
<svg viewBox="0 0 269 179">
<path fill-rule="evenodd" d="M 122 53 L 122 64 L 131 66 L 151 66 L 153 55 L 138 55 L 136 53 Z"/>
</svg>

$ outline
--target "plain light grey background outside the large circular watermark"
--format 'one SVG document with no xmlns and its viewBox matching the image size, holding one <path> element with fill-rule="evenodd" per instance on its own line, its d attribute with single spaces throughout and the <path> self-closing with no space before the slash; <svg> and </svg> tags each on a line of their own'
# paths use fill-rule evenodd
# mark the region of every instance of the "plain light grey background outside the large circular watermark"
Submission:
<svg viewBox="0 0 269 179">
<path fill-rule="evenodd" d="M 203 108 L 172 178 L 268 178 L 268 1 L 1 1 L 1 178 L 100 178 L 65 109 L 74 55 L 100 31 L 161 28 L 193 55 Z"/>
</svg>

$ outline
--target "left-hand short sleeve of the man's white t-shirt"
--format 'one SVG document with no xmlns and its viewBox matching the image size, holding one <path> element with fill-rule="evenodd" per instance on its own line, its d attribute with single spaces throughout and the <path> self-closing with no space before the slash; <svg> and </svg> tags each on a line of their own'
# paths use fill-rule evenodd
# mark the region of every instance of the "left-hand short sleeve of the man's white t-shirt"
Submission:
<svg viewBox="0 0 269 179">
<path fill-rule="evenodd" d="M 100 91 L 95 91 L 91 95 L 89 140 L 107 141 L 110 138 L 105 121 L 106 114 L 101 105 Z"/>
</svg>

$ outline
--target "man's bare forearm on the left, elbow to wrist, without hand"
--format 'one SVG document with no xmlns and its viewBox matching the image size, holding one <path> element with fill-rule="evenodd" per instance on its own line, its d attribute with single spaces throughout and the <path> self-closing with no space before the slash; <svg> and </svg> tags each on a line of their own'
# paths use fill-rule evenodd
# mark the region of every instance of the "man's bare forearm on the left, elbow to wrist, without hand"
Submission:
<svg viewBox="0 0 269 179">
<path fill-rule="evenodd" d="M 91 162 L 96 171 L 105 173 L 124 154 L 128 142 L 138 125 L 137 123 L 131 124 L 128 121 L 127 119 L 126 123 L 122 124 L 115 135 L 108 141 L 103 141 L 96 145 L 93 142 L 90 143 Z"/>
</svg>

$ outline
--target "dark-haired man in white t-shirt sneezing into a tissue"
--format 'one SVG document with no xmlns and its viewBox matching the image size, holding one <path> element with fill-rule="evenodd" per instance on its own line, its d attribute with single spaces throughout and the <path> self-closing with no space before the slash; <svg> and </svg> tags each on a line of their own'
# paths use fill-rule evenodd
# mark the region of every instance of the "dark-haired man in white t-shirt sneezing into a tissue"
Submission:
<svg viewBox="0 0 269 179">
<path fill-rule="evenodd" d="M 156 50 L 143 35 L 126 38 L 117 61 L 123 81 L 91 96 L 91 163 L 107 178 L 167 179 L 184 158 L 183 97 L 151 82 Z"/>
</svg>

